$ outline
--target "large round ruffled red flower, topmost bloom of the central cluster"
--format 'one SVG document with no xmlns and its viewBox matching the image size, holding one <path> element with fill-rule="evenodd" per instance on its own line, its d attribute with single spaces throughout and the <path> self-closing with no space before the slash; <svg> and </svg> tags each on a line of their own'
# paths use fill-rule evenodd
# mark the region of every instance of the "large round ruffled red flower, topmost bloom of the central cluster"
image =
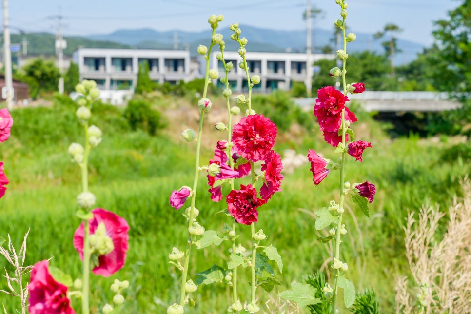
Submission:
<svg viewBox="0 0 471 314">
<path fill-rule="evenodd" d="M 234 125 L 232 140 L 236 152 L 245 159 L 257 162 L 275 145 L 276 125 L 262 115 L 244 117 Z"/>
</svg>

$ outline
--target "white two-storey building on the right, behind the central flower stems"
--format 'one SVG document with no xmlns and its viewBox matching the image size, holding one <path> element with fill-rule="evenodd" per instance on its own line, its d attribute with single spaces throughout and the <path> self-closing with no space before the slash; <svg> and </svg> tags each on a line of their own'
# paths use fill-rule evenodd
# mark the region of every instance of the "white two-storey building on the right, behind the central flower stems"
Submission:
<svg viewBox="0 0 471 314">
<path fill-rule="evenodd" d="M 212 52 L 210 56 L 210 69 L 218 69 L 219 78 L 225 76 L 224 65 L 216 59 L 217 52 Z M 320 59 L 334 59 L 334 54 L 313 54 L 311 59 L 314 62 Z M 243 92 L 247 90 L 247 76 L 245 70 L 239 68 L 238 64 L 242 57 L 238 52 L 225 51 L 226 62 L 232 61 L 234 68 L 229 72 L 229 85 L 233 91 Z M 275 89 L 289 90 L 293 82 L 306 83 L 306 60 L 307 55 L 302 53 L 277 53 L 277 52 L 247 52 L 245 55 L 249 69 L 249 75 L 259 75 L 260 84 L 253 87 L 253 91 L 271 92 Z M 198 57 L 200 69 L 205 75 L 206 60 L 203 56 Z M 314 71 L 313 71 L 314 72 Z M 214 80 L 217 86 L 223 86 L 220 80 Z"/>
</svg>

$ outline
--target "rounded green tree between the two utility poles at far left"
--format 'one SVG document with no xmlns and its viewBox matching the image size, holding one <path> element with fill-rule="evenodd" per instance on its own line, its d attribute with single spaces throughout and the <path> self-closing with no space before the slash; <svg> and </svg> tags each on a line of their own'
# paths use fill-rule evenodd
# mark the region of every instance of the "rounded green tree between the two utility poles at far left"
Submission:
<svg viewBox="0 0 471 314">
<path fill-rule="evenodd" d="M 20 77 L 29 85 L 32 98 L 37 98 L 39 93 L 58 90 L 59 69 L 52 60 L 33 59 L 22 67 Z"/>
</svg>

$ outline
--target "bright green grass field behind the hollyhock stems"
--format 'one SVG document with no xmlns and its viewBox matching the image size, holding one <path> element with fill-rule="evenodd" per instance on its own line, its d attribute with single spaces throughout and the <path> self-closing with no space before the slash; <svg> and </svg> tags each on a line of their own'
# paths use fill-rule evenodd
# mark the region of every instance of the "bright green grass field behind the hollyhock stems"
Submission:
<svg viewBox="0 0 471 314">
<path fill-rule="evenodd" d="M 93 294 L 100 299 L 93 307 L 97 309 L 111 302 L 109 286 L 114 278 L 119 278 L 131 282 L 120 309 L 122 313 L 164 313 L 179 295 L 179 274 L 168 264 L 168 254 L 173 246 L 182 249 L 187 236 L 183 210 L 172 209 L 168 198 L 172 190 L 193 181 L 194 143 L 184 144 L 166 132 L 156 137 L 142 131 L 131 132 L 119 109 L 98 106 L 97 110 L 100 114 L 94 123 L 104 135 L 103 142 L 91 153 L 90 190 L 97 196 L 97 206 L 123 216 L 131 230 L 125 268 L 110 278 L 92 277 Z M 72 106 L 56 105 L 16 110 L 12 114 L 15 119 L 12 137 L 0 147 L 10 179 L 7 193 L 0 201 L 0 236 L 10 234 L 16 247 L 20 247 L 24 232 L 30 228 L 26 263 L 53 257 L 51 265 L 76 278 L 81 263 L 72 238 L 80 223 L 74 213 L 81 191 L 78 166 L 70 162 L 67 147 L 72 141 L 82 140 L 73 111 Z M 356 137 L 371 141 L 373 149 L 365 151 L 363 163 L 349 158 L 346 177 L 351 183 L 368 180 L 378 192 L 369 218 L 351 205 L 361 234 L 351 215 L 346 215 L 351 237 L 345 237 L 342 257 L 349 263 L 348 276 L 356 287 L 373 288 L 381 313 L 394 313 L 393 275 L 407 274 L 408 268 L 402 231 L 407 212 L 418 210 L 427 201 L 446 209 L 452 196 L 459 193 L 459 178 L 470 167 L 450 157 L 447 162 L 441 161 L 440 156 L 451 144 L 414 137 L 392 141 L 365 114 L 359 120 L 366 123 L 353 125 Z M 337 158 L 319 133 L 317 130 L 301 137 L 280 134 L 283 140 L 276 149 L 281 152 L 294 148 L 307 155 L 307 150 L 314 148 L 326 157 Z M 225 137 L 220 133 L 210 136 L 215 141 Z M 206 147 L 201 165 L 211 156 L 212 148 Z M 275 270 L 282 287 L 275 288 L 272 297 L 278 290 L 288 289 L 292 281 L 301 281 L 303 275 L 314 273 L 328 256 L 326 247 L 316 241 L 312 213 L 338 198 L 338 172 L 331 172 L 315 187 L 309 168 L 304 164 L 294 173 L 285 174 L 283 191 L 259 211 L 256 229 L 264 230 L 269 236 L 267 243 L 277 247 L 284 262 L 283 274 Z M 198 220 L 206 230 L 221 232 L 224 223 L 231 222 L 225 215 L 216 215 L 224 209 L 225 202 L 213 203 L 209 199 L 204 174 L 199 183 Z M 348 199 L 347 204 L 352 202 Z M 240 225 L 238 232 L 240 243 L 249 248 L 250 227 Z M 194 250 L 191 277 L 215 263 L 224 267 L 229 247 L 229 243 L 223 242 L 218 248 Z M 0 258 L 0 269 L 4 266 L 11 270 Z M 249 280 L 248 269 L 239 273 L 239 293 L 241 300 L 246 301 L 250 297 L 245 284 Z M 5 288 L 5 281 L 0 281 L 0 289 Z M 269 297 L 261 290 L 257 294 L 261 300 Z M 222 284 L 200 286 L 192 313 L 224 313 L 229 296 L 228 287 Z M 13 297 L 2 294 L 0 300 L 8 313 L 19 307 Z"/>
</svg>

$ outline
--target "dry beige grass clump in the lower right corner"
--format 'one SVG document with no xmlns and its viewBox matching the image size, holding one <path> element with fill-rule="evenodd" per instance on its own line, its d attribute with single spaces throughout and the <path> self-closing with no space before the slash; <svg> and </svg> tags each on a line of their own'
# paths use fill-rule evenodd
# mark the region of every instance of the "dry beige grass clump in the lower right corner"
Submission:
<svg viewBox="0 0 471 314">
<path fill-rule="evenodd" d="M 413 288 L 408 278 L 396 280 L 397 313 L 471 313 L 471 183 L 462 182 L 463 198 L 455 197 L 450 220 L 441 241 L 438 228 L 444 213 L 424 206 L 415 220 L 408 216 L 404 228 L 406 255 Z M 412 293 L 413 292 L 413 293 Z"/>
</svg>

